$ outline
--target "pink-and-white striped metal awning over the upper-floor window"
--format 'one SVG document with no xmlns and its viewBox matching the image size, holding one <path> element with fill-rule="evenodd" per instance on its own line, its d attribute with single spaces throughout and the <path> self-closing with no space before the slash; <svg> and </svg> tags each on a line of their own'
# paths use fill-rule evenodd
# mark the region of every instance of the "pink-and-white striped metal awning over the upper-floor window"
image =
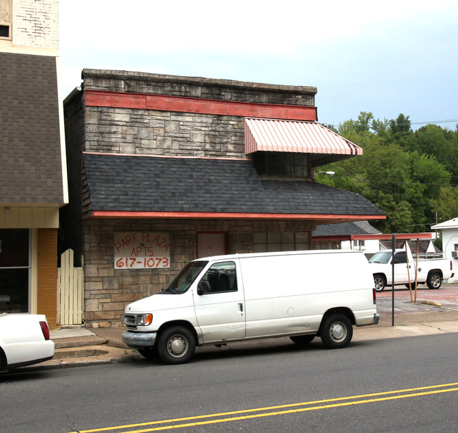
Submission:
<svg viewBox="0 0 458 433">
<path fill-rule="evenodd" d="M 245 118 L 245 153 L 309 153 L 313 166 L 352 156 L 363 149 L 316 122 Z"/>
</svg>

